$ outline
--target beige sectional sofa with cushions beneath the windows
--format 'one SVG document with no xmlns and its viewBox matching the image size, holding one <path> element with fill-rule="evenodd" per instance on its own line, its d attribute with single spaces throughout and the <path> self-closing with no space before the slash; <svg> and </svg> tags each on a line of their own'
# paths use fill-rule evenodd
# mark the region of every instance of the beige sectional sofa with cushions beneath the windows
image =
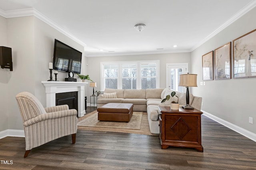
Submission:
<svg viewBox="0 0 256 170">
<path fill-rule="evenodd" d="M 169 89 L 105 89 L 104 94 L 98 96 L 98 107 L 106 103 L 132 103 L 133 111 L 147 112 L 150 132 L 159 133 L 158 105 L 170 105 L 170 100 L 161 103 L 166 95 L 170 95 Z M 186 93 L 176 91 L 180 105 L 186 105 Z M 202 97 L 193 96 L 190 93 L 190 105 L 201 110 Z"/>
</svg>

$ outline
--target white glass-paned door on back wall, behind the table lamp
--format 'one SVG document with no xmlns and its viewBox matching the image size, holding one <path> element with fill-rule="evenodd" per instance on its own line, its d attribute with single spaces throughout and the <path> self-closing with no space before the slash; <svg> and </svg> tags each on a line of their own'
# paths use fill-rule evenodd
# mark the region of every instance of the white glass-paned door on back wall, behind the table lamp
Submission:
<svg viewBox="0 0 256 170">
<path fill-rule="evenodd" d="M 188 72 L 188 63 L 166 64 L 166 88 L 185 92 L 186 87 L 179 86 L 180 75 Z"/>
</svg>

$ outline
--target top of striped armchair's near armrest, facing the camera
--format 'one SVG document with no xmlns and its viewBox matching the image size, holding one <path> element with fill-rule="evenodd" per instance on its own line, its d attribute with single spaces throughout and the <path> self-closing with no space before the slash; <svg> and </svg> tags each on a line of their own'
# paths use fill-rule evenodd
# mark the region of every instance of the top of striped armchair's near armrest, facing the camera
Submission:
<svg viewBox="0 0 256 170">
<path fill-rule="evenodd" d="M 24 127 L 28 127 L 30 125 L 33 125 L 33 124 L 41 122 L 41 121 L 46 121 L 46 120 L 50 120 L 50 119 L 58 119 L 61 117 L 76 116 L 76 115 L 77 115 L 76 109 L 44 113 L 44 114 L 38 115 L 36 117 L 33 117 L 32 119 L 25 121 L 23 123 L 23 125 L 24 125 Z"/>
</svg>

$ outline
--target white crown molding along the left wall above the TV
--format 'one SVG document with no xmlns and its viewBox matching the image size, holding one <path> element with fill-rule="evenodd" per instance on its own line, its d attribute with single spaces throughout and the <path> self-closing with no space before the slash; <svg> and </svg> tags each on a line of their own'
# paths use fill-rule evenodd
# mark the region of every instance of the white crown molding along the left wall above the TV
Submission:
<svg viewBox="0 0 256 170">
<path fill-rule="evenodd" d="M 10 11 L 4 11 L 4 10 L 0 9 L 0 15 L 3 16 L 4 18 L 35 16 L 36 18 L 38 18 L 38 19 L 42 20 L 43 22 L 45 22 L 46 24 L 52 26 L 53 28 L 55 28 L 56 30 L 61 32 L 62 34 L 68 36 L 75 42 L 79 43 L 80 45 L 82 45 L 84 47 L 86 46 L 85 43 L 78 40 L 78 38 L 76 38 L 75 36 L 73 36 L 72 34 L 67 32 L 66 30 L 64 30 L 61 26 L 59 26 L 58 24 L 56 24 L 55 22 L 53 22 L 52 20 L 50 20 L 49 18 L 47 18 L 46 16 L 44 16 L 43 14 L 41 14 L 34 8 L 27 8 L 27 9 L 22 9 L 22 10 L 10 10 Z"/>
</svg>

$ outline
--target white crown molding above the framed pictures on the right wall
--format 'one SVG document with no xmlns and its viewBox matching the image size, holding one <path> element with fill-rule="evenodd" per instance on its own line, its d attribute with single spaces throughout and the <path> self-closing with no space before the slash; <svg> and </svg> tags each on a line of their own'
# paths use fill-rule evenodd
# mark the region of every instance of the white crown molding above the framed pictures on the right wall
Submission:
<svg viewBox="0 0 256 170">
<path fill-rule="evenodd" d="M 213 38 L 214 36 L 216 36 L 219 32 L 221 32 L 222 30 L 224 30 L 225 28 L 227 28 L 228 26 L 230 26 L 233 22 L 235 22 L 236 20 L 238 20 L 239 18 L 241 18 L 244 14 L 246 14 L 247 12 L 249 12 L 250 10 L 252 10 L 252 8 L 254 8 L 256 6 L 256 0 L 253 0 L 252 2 L 250 2 L 249 4 L 247 4 L 246 6 L 244 6 L 244 8 L 242 8 L 240 11 L 238 11 L 234 16 L 232 16 L 227 22 L 225 22 L 224 24 L 222 24 L 222 26 L 220 26 L 219 28 L 217 28 L 214 32 L 212 32 L 209 36 L 207 36 L 202 42 L 198 43 L 197 45 L 195 45 L 194 47 L 192 47 L 191 51 L 194 51 L 196 48 L 200 47 L 200 45 L 202 45 L 203 43 L 207 42 L 208 40 L 210 40 L 211 38 Z"/>
</svg>

